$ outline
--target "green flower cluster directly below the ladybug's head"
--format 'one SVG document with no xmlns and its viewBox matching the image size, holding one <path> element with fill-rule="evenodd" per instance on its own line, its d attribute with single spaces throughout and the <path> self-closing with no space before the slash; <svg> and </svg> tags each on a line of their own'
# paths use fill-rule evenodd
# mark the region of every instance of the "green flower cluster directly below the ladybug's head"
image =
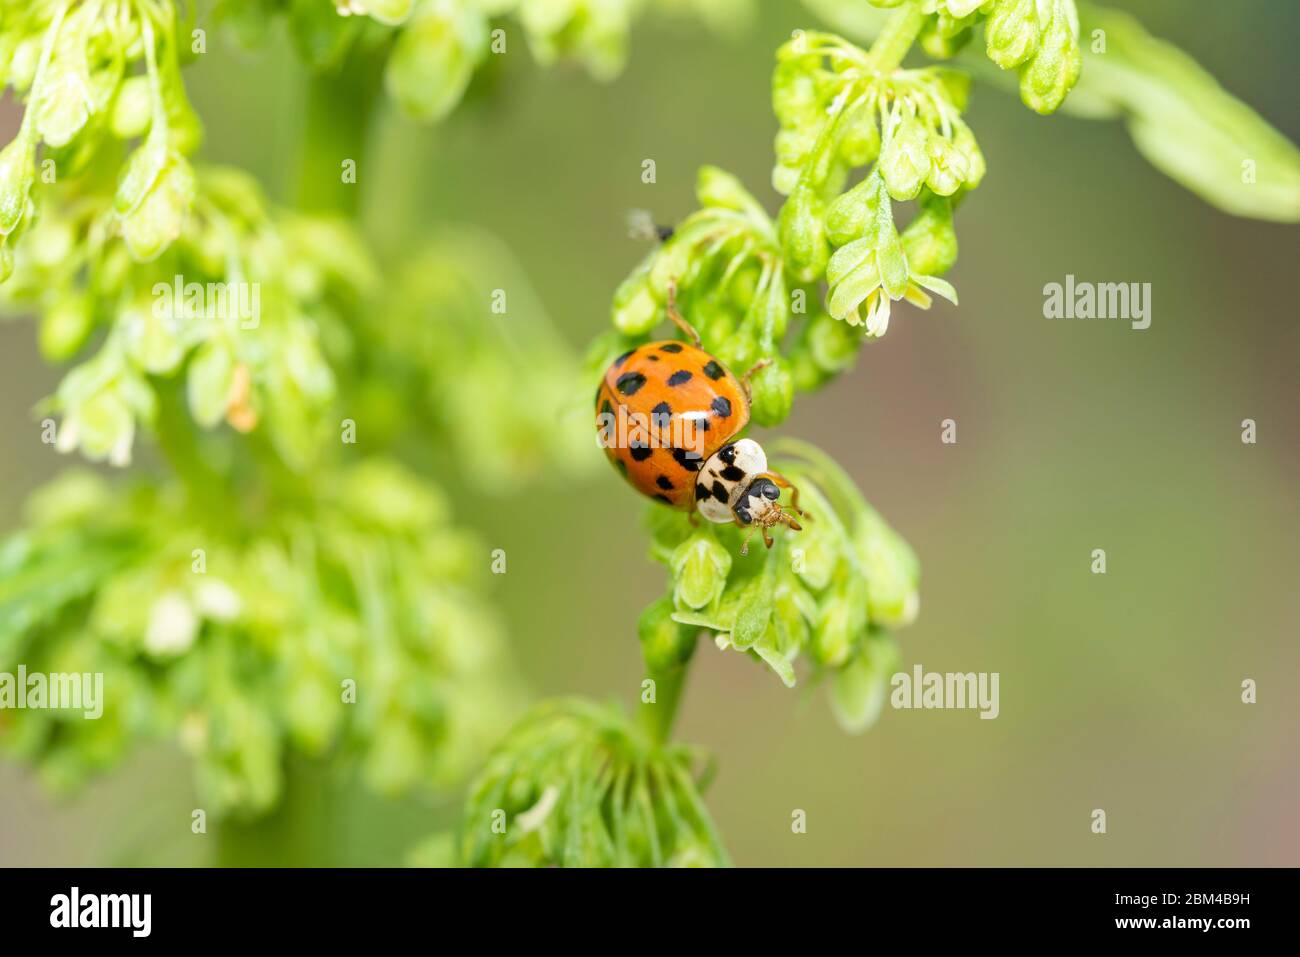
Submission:
<svg viewBox="0 0 1300 957">
<path fill-rule="evenodd" d="M 798 534 L 775 536 L 771 549 L 745 555 L 746 529 L 650 510 L 650 554 L 672 580 L 642 616 L 647 664 L 682 661 L 703 628 L 718 648 L 762 661 L 786 687 L 800 659 L 818 677 L 828 675 L 836 715 L 861 731 L 879 713 L 897 664 L 889 633 L 919 610 L 916 555 L 828 455 L 793 439 L 771 451 L 811 516 Z"/>
</svg>

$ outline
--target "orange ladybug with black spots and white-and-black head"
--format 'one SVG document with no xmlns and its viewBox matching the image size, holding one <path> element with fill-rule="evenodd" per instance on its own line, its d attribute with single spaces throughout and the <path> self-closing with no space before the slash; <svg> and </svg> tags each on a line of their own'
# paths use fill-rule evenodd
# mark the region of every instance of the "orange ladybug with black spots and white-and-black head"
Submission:
<svg viewBox="0 0 1300 957">
<path fill-rule="evenodd" d="M 749 424 L 750 377 L 771 360 L 736 378 L 699 347 L 671 285 L 668 319 L 689 342 L 647 342 L 610 363 L 601 378 L 595 426 L 604 454 L 637 492 L 690 512 L 692 521 L 698 512 L 718 524 L 758 528 L 772 547 L 774 525 L 802 528 L 781 508 L 781 489 L 790 489 L 792 511 L 806 512 L 798 489 L 767 467 L 763 447 L 736 438 Z M 748 550 L 746 537 L 741 554 Z"/>
</svg>

